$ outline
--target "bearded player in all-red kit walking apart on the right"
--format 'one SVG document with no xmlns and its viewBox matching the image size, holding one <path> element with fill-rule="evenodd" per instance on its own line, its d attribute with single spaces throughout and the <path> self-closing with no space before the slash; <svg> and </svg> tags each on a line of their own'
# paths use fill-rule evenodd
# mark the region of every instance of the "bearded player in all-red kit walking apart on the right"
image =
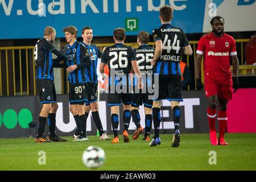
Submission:
<svg viewBox="0 0 256 182">
<path fill-rule="evenodd" d="M 210 128 L 210 143 L 213 146 L 228 144 L 224 139 L 228 123 L 226 110 L 228 101 L 232 100 L 232 84 L 234 93 L 239 86 L 239 61 L 237 59 L 236 42 L 232 36 L 224 33 L 224 22 L 224 18 L 221 16 L 212 18 L 210 21 L 212 32 L 199 40 L 195 60 L 196 88 L 200 90 L 203 88 L 200 71 L 201 59 L 204 55 L 204 88 L 205 95 L 209 100 L 207 116 Z M 230 58 L 233 63 L 233 77 L 230 69 Z M 215 127 L 217 107 L 218 139 Z"/>
</svg>

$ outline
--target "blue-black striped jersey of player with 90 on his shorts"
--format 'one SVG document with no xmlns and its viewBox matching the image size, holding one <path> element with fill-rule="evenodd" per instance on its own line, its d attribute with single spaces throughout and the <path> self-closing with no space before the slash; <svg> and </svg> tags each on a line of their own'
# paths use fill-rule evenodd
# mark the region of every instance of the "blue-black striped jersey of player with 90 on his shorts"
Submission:
<svg viewBox="0 0 256 182">
<path fill-rule="evenodd" d="M 90 66 L 91 60 L 84 59 L 86 57 L 85 46 L 76 40 L 76 42 L 72 46 L 68 44 L 64 47 L 64 49 L 65 49 L 65 64 L 67 65 L 67 67 L 75 64 L 77 65 L 77 69 L 75 71 L 68 73 L 69 82 L 71 84 L 86 82 L 85 66 L 86 67 Z M 85 66 L 81 66 L 81 65 L 85 65 Z"/>
</svg>

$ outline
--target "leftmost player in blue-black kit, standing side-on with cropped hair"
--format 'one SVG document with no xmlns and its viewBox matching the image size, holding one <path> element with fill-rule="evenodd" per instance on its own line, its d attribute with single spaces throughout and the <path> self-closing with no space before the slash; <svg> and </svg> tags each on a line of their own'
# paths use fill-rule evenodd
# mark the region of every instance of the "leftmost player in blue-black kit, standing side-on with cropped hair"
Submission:
<svg viewBox="0 0 256 182">
<path fill-rule="evenodd" d="M 39 114 L 38 133 L 35 142 L 66 142 L 55 134 L 56 111 L 58 105 L 56 103 L 56 91 L 53 77 L 52 53 L 60 60 L 63 58 L 61 51 L 56 49 L 52 43 L 55 40 L 56 31 L 53 27 L 44 29 L 44 38 L 39 39 L 34 49 L 35 65 L 36 65 L 36 85 L 39 90 L 39 96 L 43 108 Z M 62 57 L 62 58 L 61 58 Z M 56 60 L 57 61 L 57 60 Z M 48 117 L 49 137 L 44 136 L 44 127 Z"/>
</svg>

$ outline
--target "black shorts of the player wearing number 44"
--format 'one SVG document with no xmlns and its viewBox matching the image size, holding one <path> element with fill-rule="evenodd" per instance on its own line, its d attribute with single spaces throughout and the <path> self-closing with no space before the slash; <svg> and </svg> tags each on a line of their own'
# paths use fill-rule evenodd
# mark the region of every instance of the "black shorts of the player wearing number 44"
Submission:
<svg viewBox="0 0 256 182">
<path fill-rule="evenodd" d="M 158 98 L 154 100 L 183 101 L 181 96 L 181 76 L 180 75 L 159 75 L 159 86 L 156 88 L 156 80 L 154 80 L 155 92 L 158 90 Z"/>
</svg>

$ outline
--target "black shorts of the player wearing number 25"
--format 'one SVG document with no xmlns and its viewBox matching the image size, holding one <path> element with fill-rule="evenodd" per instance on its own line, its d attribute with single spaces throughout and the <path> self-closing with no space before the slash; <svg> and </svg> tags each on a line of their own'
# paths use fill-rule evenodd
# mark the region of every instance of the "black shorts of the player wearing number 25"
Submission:
<svg viewBox="0 0 256 182">
<path fill-rule="evenodd" d="M 139 107 L 144 105 L 144 107 L 152 108 L 153 100 L 149 100 L 148 96 L 150 94 L 148 93 L 141 93 L 142 91 L 140 90 L 140 93 L 134 93 L 133 94 L 133 100 L 131 101 L 131 106 L 132 107 Z"/>
</svg>

